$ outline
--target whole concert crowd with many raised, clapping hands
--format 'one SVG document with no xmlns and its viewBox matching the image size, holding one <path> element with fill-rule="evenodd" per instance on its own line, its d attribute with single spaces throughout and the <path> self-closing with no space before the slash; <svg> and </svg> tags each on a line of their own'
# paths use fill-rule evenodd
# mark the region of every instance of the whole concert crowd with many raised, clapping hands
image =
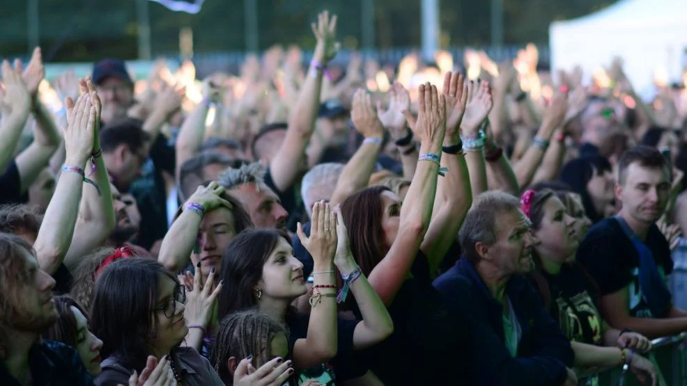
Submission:
<svg viewBox="0 0 687 386">
<path fill-rule="evenodd" d="M 681 88 L 531 45 L 341 68 L 336 26 L 201 82 L 2 63 L 2 385 L 656 385 Z"/>
</svg>

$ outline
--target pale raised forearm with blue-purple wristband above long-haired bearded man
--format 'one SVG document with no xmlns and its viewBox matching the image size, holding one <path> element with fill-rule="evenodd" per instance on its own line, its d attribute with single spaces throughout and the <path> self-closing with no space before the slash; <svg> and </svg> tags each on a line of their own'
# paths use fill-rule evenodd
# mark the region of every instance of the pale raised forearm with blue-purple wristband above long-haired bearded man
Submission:
<svg viewBox="0 0 687 386">
<path fill-rule="evenodd" d="M 84 170 L 86 161 L 68 157 L 66 165 Z M 78 173 L 62 172 L 52 200 L 45 210 L 33 248 L 40 268 L 47 273 L 57 271 L 69 250 L 83 185 L 83 177 Z"/>
</svg>

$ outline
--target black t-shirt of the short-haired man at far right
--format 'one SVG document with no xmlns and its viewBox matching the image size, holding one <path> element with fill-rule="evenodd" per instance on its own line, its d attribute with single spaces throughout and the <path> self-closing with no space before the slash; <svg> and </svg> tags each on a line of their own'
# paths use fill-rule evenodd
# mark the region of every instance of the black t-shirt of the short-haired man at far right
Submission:
<svg viewBox="0 0 687 386">
<path fill-rule="evenodd" d="M 656 225 L 651 225 L 644 244 L 651 250 L 658 272 L 670 275 L 673 262 L 670 246 Z M 580 244 L 577 259 L 599 284 L 599 295 L 605 296 L 628 287 L 628 310 L 631 316 L 651 317 L 639 284 L 639 255 L 632 241 L 615 218 L 596 223 Z"/>
</svg>

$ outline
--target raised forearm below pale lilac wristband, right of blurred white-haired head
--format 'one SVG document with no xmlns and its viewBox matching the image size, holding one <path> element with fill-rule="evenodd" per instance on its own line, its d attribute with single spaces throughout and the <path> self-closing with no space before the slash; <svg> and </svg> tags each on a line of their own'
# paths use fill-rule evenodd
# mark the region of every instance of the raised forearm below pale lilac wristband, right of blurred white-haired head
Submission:
<svg viewBox="0 0 687 386">
<path fill-rule="evenodd" d="M 341 171 L 341 176 L 332 194 L 332 205 L 341 204 L 353 193 L 365 188 L 370 180 L 379 156 L 379 145 L 376 143 L 363 143 L 353 154 L 346 167 Z"/>
</svg>

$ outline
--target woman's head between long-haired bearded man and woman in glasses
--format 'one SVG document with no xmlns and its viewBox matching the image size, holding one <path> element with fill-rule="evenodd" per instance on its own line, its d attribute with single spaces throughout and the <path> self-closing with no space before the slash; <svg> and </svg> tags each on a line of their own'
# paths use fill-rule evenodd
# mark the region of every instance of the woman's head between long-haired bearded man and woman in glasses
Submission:
<svg viewBox="0 0 687 386">
<path fill-rule="evenodd" d="M 53 325 L 43 332 L 43 337 L 61 341 L 63 344 L 75 348 L 88 373 L 93 378 L 97 377 L 102 371 L 100 367 L 102 340 L 88 330 L 88 312 L 69 296 L 55 296 L 53 300 L 59 317 Z"/>
</svg>

